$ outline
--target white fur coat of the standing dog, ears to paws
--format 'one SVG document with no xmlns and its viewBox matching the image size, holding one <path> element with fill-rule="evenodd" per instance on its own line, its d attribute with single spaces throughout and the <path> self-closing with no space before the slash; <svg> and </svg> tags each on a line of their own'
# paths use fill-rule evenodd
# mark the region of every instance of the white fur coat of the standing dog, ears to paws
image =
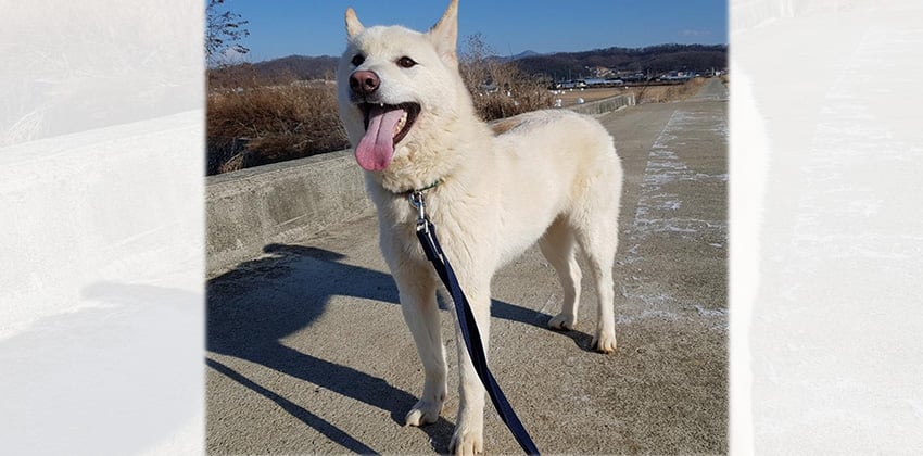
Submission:
<svg viewBox="0 0 923 456">
<path fill-rule="evenodd" d="M 426 34 L 400 26 L 364 27 L 346 11 L 349 43 L 338 68 L 340 116 L 351 142 L 365 134 L 363 113 L 350 89 L 356 69 L 375 72 L 375 103 L 419 103 L 409 134 L 383 170 L 366 172 L 378 208 L 381 252 L 397 283 L 404 318 L 422 360 L 426 381 L 406 423 L 434 422 L 446 394 L 445 353 L 435 293 L 438 278 L 415 236 L 416 213 L 407 192 L 435 181 L 425 193 L 428 214 L 468 296 L 483 344 L 490 334 L 491 278 L 506 262 L 539 242 L 564 287 L 561 313 L 548 325 L 573 328 L 581 273 L 580 245 L 598 293 L 593 345 L 616 350 L 612 262 L 618 241 L 621 164 L 612 138 L 592 117 L 565 110 L 481 122 L 458 73 L 457 0 Z M 356 54 L 364 55 L 353 65 Z M 396 62 L 410 56 L 417 65 Z M 460 340 L 457 333 L 456 341 Z M 451 448 L 483 451 L 484 389 L 464 343 L 457 343 L 460 403 Z"/>
</svg>

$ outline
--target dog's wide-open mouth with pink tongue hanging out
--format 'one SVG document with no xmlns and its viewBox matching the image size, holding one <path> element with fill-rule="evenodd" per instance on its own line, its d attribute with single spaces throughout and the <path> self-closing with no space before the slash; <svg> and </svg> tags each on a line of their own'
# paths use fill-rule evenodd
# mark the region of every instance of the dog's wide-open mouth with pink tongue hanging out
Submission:
<svg viewBox="0 0 923 456">
<path fill-rule="evenodd" d="M 414 126 L 420 114 L 417 103 L 359 103 L 365 135 L 356 145 L 356 161 L 368 170 L 381 170 L 391 164 L 394 148 Z"/>
</svg>

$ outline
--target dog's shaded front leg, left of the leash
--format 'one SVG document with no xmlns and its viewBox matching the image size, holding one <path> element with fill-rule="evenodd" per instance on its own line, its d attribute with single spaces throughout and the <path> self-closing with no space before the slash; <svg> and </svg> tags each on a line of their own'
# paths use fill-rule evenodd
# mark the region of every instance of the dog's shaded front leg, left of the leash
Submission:
<svg viewBox="0 0 923 456">
<path fill-rule="evenodd" d="M 407 426 L 435 422 L 445 403 L 445 350 L 435 302 L 435 277 L 428 266 L 425 263 L 413 266 L 405 264 L 402 270 L 392 271 L 397 282 L 404 320 L 414 335 L 426 376 L 420 400 L 405 418 Z"/>
</svg>

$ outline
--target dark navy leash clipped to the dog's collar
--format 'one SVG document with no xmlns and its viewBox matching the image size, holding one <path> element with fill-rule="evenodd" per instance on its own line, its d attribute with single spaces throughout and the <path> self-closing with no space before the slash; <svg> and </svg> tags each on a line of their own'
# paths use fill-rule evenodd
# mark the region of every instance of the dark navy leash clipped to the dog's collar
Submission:
<svg viewBox="0 0 923 456">
<path fill-rule="evenodd" d="M 430 186 L 433 187 L 433 186 Z M 475 321 L 475 315 L 471 313 L 471 306 L 468 304 L 468 299 L 458 286 L 458 279 L 455 277 L 455 271 L 452 270 L 452 265 L 448 258 L 442 252 L 442 246 L 439 244 L 439 239 L 435 236 L 435 226 L 430 221 L 426 214 L 426 204 L 423 203 L 422 190 L 410 192 L 410 204 L 417 208 L 417 238 L 420 240 L 420 245 L 426 252 L 427 259 L 435 267 L 439 278 L 445 288 L 452 294 L 452 301 L 455 302 L 455 313 L 458 316 L 458 325 L 462 328 L 462 337 L 465 339 L 465 346 L 468 349 L 468 355 L 471 357 L 471 363 L 475 365 L 475 371 L 481 379 L 481 383 L 488 390 L 488 395 L 494 404 L 494 408 L 500 414 L 500 418 L 513 432 L 513 436 L 519 443 L 519 446 L 529 455 L 538 455 L 539 448 L 529 436 L 529 432 L 519 421 L 516 413 L 513 411 L 513 406 L 503 394 L 500 385 L 494 380 L 493 373 L 488 368 L 488 360 L 484 354 L 484 346 L 481 344 L 481 333 L 478 331 L 478 322 Z"/>
</svg>

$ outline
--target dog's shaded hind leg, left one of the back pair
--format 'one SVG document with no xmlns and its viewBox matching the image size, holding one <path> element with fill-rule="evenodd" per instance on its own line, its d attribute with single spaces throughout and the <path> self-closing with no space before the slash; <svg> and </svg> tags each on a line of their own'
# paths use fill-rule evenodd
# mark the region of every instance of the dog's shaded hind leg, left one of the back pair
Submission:
<svg viewBox="0 0 923 456">
<path fill-rule="evenodd" d="M 548 321 L 554 329 L 573 329 L 580 304 L 580 280 L 583 277 L 574 255 L 574 239 L 567 219 L 558 217 L 539 240 L 539 248 L 558 274 L 564 289 L 561 312 Z"/>
</svg>

